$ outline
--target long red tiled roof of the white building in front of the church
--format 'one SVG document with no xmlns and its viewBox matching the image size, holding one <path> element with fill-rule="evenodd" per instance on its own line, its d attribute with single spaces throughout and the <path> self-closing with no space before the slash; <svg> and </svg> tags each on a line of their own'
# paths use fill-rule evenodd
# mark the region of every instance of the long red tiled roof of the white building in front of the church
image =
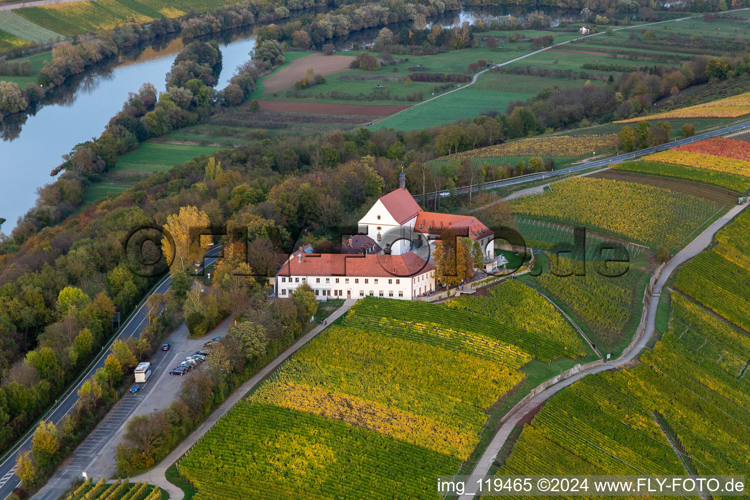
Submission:
<svg viewBox="0 0 750 500">
<path fill-rule="evenodd" d="M 301 257 L 300 257 L 301 256 Z M 301 262 L 300 262 L 301 261 Z M 382 276 L 412 277 L 431 271 L 433 265 L 409 252 L 403 255 L 346 255 L 301 253 L 279 269 L 278 276 Z"/>
</svg>

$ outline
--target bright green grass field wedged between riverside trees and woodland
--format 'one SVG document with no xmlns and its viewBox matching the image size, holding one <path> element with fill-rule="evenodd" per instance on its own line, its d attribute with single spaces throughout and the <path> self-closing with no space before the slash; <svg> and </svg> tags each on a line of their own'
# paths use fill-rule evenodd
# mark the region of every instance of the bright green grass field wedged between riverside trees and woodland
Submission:
<svg viewBox="0 0 750 500">
<path fill-rule="evenodd" d="M 220 148 L 213 146 L 191 146 L 163 144 L 146 141 L 135 151 L 120 157 L 113 170 L 126 172 L 166 172 L 172 166 L 181 165 L 201 154 L 211 154 Z"/>
</svg>

